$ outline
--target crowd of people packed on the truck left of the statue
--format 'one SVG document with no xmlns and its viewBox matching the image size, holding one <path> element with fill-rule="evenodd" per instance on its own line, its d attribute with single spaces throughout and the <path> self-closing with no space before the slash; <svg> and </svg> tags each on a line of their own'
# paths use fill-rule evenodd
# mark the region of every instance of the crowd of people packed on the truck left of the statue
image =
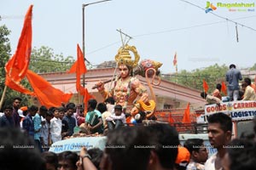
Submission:
<svg viewBox="0 0 256 170">
<path fill-rule="evenodd" d="M 20 107 L 21 101 L 16 97 L 12 105 L 3 106 L 0 127 L 20 128 L 35 140 L 41 152 L 48 150 L 50 144 L 73 136 L 75 129 L 79 129 L 77 133 L 102 134 L 126 124 L 122 106 L 114 105 L 112 97 L 99 104 L 90 99 L 86 116 L 82 105 L 74 103 L 48 109 L 44 105 Z"/>
</svg>

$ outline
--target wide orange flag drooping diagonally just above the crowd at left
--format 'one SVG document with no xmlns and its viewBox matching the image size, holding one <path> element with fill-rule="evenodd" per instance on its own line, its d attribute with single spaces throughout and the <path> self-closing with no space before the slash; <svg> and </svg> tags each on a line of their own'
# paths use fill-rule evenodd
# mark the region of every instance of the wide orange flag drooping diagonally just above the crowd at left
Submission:
<svg viewBox="0 0 256 170">
<path fill-rule="evenodd" d="M 36 94 L 41 105 L 46 107 L 61 106 L 61 103 L 67 103 L 73 94 L 64 94 L 60 89 L 54 88 L 49 82 L 44 80 L 38 74 L 27 71 L 26 77 L 30 82 L 34 93 Z"/>
</svg>

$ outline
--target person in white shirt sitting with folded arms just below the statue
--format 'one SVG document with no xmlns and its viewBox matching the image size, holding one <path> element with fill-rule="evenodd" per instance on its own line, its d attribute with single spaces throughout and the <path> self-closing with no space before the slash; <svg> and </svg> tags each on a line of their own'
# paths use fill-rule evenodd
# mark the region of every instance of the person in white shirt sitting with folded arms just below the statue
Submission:
<svg viewBox="0 0 256 170">
<path fill-rule="evenodd" d="M 106 118 L 108 123 L 108 129 L 118 128 L 124 126 L 126 123 L 125 114 L 122 112 L 122 105 L 114 106 L 114 115 L 110 115 Z"/>
</svg>

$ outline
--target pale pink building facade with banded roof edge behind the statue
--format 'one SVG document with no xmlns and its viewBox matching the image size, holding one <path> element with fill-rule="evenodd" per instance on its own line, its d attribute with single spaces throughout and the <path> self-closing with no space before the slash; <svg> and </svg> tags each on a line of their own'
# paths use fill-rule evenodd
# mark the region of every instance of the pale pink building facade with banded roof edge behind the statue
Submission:
<svg viewBox="0 0 256 170">
<path fill-rule="evenodd" d="M 81 77 L 81 83 L 88 89 L 89 93 L 96 97 L 98 102 L 102 102 L 102 95 L 98 93 L 96 89 L 92 89 L 96 82 L 106 81 L 113 79 L 114 68 L 100 68 L 87 71 L 83 77 Z M 72 101 L 76 104 L 81 103 L 82 97 L 76 92 L 76 75 L 66 72 L 55 72 L 40 74 L 45 80 L 50 82 L 53 87 L 60 89 L 64 93 L 73 93 Z M 148 88 L 147 81 L 144 77 L 137 76 L 137 78 Z M 112 82 L 108 82 L 105 85 L 106 89 L 110 89 L 113 86 Z M 191 110 L 201 110 L 206 104 L 205 100 L 201 98 L 200 91 L 187 88 L 174 82 L 161 80 L 159 86 L 153 86 L 154 94 L 156 97 L 156 109 L 157 110 L 183 110 L 188 103 L 190 103 Z M 148 94 L 150 90 L 148 88 Z"/>
</svg>

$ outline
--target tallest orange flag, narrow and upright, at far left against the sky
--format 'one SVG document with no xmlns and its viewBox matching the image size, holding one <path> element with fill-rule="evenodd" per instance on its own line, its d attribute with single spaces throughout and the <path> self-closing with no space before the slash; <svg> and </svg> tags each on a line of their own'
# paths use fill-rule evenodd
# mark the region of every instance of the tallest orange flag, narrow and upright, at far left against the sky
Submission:
<svg viewBox="0 0 256 170">
<path fill-rule="evenodd" d="M 26 76 L 30 62 L 32 48 L 32 5 L 26 12 L 23 28 L 20 34 L 18 47 L 15 54 L 5 65 L 6 74 L 15 82 L 20 82 Z"/>
</svg>

